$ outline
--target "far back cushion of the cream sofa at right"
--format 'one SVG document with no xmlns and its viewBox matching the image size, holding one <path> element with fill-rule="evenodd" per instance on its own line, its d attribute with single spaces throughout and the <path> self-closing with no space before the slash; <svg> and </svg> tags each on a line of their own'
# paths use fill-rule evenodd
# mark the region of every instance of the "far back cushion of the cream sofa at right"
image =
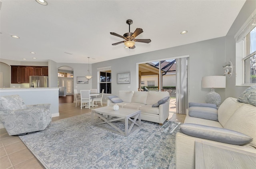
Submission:
<svg viewBox="0 0 256 169">
<path fill-rule="evenodd" d="M 244 103 L 239 103 L 236 101 L 236 98 L 228 97 L 226 98 L 223 103 L 220 105 L 218 109 L 218 121 L 222 126 L 226 124 L 228 119 L 233 115 L 233 113 Z"/>
</svg>

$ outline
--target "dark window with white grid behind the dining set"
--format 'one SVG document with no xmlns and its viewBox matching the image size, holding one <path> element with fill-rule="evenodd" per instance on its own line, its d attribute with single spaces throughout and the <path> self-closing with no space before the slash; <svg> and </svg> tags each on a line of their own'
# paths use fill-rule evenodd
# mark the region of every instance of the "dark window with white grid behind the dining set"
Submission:
<svg viewBox="0 0 256 169">
<path fill-rule="evenodd" d="M 111 93 L 111 73 L 100 72 L 100 91 L 104 89 L 104 93 Z"/>
</svg>

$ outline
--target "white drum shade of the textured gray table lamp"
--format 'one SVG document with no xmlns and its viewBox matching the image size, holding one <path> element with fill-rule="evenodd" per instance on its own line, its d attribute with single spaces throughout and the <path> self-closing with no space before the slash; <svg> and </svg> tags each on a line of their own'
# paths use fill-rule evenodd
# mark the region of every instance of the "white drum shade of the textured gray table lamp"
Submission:
<svg viewBox="0 0 256 169">
<path fill-rule="evenodd" d="M 205 76 L 202 78 L 203 88 L 226 88 L 226 76 Z"/>
</svg>

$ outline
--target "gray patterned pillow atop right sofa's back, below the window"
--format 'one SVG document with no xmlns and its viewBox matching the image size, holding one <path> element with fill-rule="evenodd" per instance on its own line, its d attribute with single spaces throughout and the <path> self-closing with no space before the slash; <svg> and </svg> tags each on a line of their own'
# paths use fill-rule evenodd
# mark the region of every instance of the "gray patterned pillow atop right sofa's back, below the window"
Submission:
<svg viewBox="0 0 256 169">
<path fill-rule="evenodd" d="M 256 106 L 256 85 L 246 89 L 237 99 L 238 102 Z"/>
</svg>

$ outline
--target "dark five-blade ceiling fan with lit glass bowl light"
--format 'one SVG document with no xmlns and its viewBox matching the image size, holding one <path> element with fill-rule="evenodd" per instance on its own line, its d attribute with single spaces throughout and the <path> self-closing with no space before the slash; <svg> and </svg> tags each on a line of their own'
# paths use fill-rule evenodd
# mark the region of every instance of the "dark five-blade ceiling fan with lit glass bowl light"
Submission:
<svg viewBox="0 0 256 169">
<path fill-rule="evenodd" d="M 126 20 L 126 24 L 129 25 L 129 32 L 125 33 L 124 36 L 121 36 L 121 35 L 118 35 L 114 32 L 110 32 L 111 35 L 114 35 L 114 36 L 118 36 L 120 38 L 123 38 L 125 41 L 121 41 L 121 42 L 117 42 L 117 43 L 114 43 L 112 45 L 118 45 L 118 44 L 122 44 L 124 43 L 124 45 L 130 49 L 134 49 L 135 46 L 135 42 L 143 42 L 143 43 L 150 43 L 151 40 L 150 39 L 135 39 L 136 36 L 138 36 L 139 34 L 141 34 L 143 32 L 142 28 L 137 28 L 133 33 L 130 32 L 130 25 L 132 24 L 132 20 L 128 19 Z"/>
</svg>

